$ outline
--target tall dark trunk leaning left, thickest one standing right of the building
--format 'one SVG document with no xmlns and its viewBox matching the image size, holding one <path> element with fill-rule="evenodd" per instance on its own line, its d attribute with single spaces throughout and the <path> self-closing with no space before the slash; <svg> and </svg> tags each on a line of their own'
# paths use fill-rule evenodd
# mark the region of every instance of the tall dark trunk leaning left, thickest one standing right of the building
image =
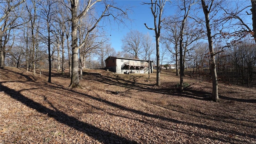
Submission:
<svg viewBox="0 0 256 144">
<path fill-rule="evenodd" d="M 207 29 L 207 37 L 208 37 L 208 43 L 209 43 L 209 50 L 210 50 L 210 64 L 211 64 L 211 72 L 212 72 L 212 100 L 214 102 L 218 102 L 219 95 L 218 95 L 218 76 L 216 72 L 216 62 L 215 62 L 215 54 L 213 49 L 213 42 L 212 42 L 212 33 L 210 28 L 210 20 L 209 20 L 209 13 L 208 6 L 206 6 L 204 0 L 201 0 L 202 2 L 202 8 L 204 10 L 204 16 L 205 16 L 205 23 L 206 23 L 206 29 Z M 213 2 L 213 1 L 212 1 Z"/>
</svg>

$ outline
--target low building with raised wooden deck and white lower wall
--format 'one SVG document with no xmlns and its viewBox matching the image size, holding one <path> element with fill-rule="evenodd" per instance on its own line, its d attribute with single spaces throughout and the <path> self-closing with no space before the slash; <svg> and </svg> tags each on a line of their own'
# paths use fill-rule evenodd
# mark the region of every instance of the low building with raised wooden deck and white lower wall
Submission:
<svg viewBox="0 0 256 144">
<path fill-rule="evenodd" d="M 109 56 L 106 60 L 106 68 L 117 74 L 148 74 L 153 72 L 153 61 L 139 60 L 134 58 L 120 58 Z"/>
</svg>

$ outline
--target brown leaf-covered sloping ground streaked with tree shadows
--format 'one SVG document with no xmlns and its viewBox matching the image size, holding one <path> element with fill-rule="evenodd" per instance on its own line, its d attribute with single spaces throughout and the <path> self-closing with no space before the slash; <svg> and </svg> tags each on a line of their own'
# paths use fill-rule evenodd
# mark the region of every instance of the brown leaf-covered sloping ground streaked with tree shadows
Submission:
<svg viewBox="0 0 256 144">
<path fill-rule="evenodd" d="M 0 144 L 256 144 L 256 88 L 156 74 L 85 70 L 82 88 L 47 70 L 0 70 Z"/>
</svg>

